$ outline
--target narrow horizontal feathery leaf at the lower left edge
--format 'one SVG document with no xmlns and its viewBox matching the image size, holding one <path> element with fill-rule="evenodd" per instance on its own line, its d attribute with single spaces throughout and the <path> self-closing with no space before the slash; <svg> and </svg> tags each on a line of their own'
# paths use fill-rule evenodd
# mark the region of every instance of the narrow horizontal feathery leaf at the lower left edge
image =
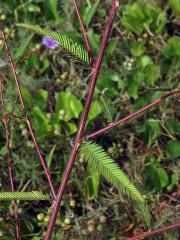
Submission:
<svg viewBox="0 0 180 240">
<path fill-rule="evenodd" d="M 49 195 L 38 191 L 32 192 L 1 192 L 0 200 L 50 200 Z"/>
</svg>

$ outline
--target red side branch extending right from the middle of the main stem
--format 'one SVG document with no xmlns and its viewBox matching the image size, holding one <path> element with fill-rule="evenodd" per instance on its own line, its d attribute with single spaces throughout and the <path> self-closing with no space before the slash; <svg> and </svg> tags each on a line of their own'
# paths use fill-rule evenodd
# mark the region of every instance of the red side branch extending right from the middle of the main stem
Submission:
<svg viewBox="0 0 180 240">
<path fill-rule="evenodd" d="M 105 128 L 102 128 L 94 133 L 91 133 L 87 136 L 85 136 L 83 138 L 82 141 L 86 141 L 86 140 L 91 140 L 91 139 L 94 139 L 95 137 L 97 136 L 100 136 L 102 134 L 104 134 L 106 131 L 108 131 L 109 129 L 111 128 L 114 128 L 116 127 L 117 125 L 120 125 L 120 124 L 123 124 L 123 123 L 126 123 L 128 122 L 129 120 L 131 120 L 132 118 L 134 117 L 137 117 L 139 116 L 141 113 L 145 112 L 146 110 L 148 110 L 149 108 L 152 108 L 154 107 L 155 105 L 157 105 L 158 103 L 162 102 L 164 99 L 166 99 L 167 97 L 173 95 L 173 94 L 176 94 L 176 93 L 179 93 L 180 92 L 180 89 L 173 89 L 172 91 L 169 91 L 168 93 L 166 93 L 165 95 L 161 96 L 160 98 L 158 98 L 156 101 L 146 105 L 145 107 L 141 108 L 140 110 L 138 110 L 137 112 L 134 112 L 130 115 L 128 115 L 127 117 L 121 119 L 121 120 L 118 120 L 114 123 L 111 123 L 109 124 L 107 127 Z"/>
</svg>

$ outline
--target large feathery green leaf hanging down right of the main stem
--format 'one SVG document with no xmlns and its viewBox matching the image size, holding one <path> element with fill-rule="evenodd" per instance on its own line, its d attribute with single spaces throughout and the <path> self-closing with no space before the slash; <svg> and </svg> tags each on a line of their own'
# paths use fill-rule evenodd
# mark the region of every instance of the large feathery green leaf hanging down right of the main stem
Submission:
<svg viewBox="0 0 180 240">
<path fill-rule="evenodd" d="M 81 145 L 81 153 L 88 164 L 96 168 L 100 175 L 114 187 L 120 189 L 123 194 L 134 200 L 138 213 L 141 214 L 149 226 L 150 215 L 141 193 L 104 149 L 93 142 L 87 141 Z"/>
</svg>

